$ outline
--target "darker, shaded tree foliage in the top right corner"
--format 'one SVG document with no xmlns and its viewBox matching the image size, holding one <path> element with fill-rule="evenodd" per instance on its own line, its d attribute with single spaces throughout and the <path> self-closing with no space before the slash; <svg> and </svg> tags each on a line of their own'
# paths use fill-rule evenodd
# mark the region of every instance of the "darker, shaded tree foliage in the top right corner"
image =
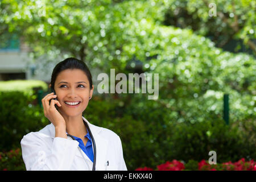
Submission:
<svg viewBox="0 0 256 182">
<path fill-rule="evenodd" d="M 247 47 L 247 52 L 255 55 L 255 1 L 168 2 L 170 5 L 166 11 L 164 24 L 189 28 L 197 35 L 209 37 L 217 47 L 232 52 L 243 51 L 242 46 Z M 214 3 L 216 7 L 216 16 L 209 16 L 209 11 L 213 10 L 213 6 L 209 7 L 210 3 Z M 238 44 L 234 44 L 233 40 L 237 40 Z"/>
</svg>

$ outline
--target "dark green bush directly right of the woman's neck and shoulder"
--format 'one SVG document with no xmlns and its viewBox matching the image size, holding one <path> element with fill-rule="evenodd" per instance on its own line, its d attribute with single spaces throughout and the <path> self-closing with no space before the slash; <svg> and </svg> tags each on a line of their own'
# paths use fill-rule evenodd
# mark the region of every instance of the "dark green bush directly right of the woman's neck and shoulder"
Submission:
<svg viewBox="0 0 256 182">
<path fill-rule="evenodd" d="M 132 170 L 141 165 L 155 166 L 160 159 L 166 160 L 163 157 L 162 145 L 170 127 L 164 125 L 163 119 L 157 119 L 161 114 L 164 117 L 161 110 L 152 109 L 151 113 L 148 110 L 154 102 L 146 102 L 146 108 L 137 105 L 137 110 L 131 107 L 134 102 L 128 103 L 127 98 L 93 100 L 85 110 L 85 117 L 89 122 L 113 130 L 119 135 L 128 169 Z"/>
</svg>

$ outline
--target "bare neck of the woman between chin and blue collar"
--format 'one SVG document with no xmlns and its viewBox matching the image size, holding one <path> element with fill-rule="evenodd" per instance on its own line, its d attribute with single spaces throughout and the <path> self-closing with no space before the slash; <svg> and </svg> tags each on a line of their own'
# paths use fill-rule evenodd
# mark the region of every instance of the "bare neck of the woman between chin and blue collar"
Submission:
<svg viewBox="0 0 256 182">
<path fill-rule="evenodd" d="M 84 136 L 87 134 L 87 130 L 84 125 L 84 121 L 82 120 L 82 115 L 72 117 L 63 115 L 63 118 L 65 119 L 66 131 L 69 135 L 84 138 Z"/>
</svg>

